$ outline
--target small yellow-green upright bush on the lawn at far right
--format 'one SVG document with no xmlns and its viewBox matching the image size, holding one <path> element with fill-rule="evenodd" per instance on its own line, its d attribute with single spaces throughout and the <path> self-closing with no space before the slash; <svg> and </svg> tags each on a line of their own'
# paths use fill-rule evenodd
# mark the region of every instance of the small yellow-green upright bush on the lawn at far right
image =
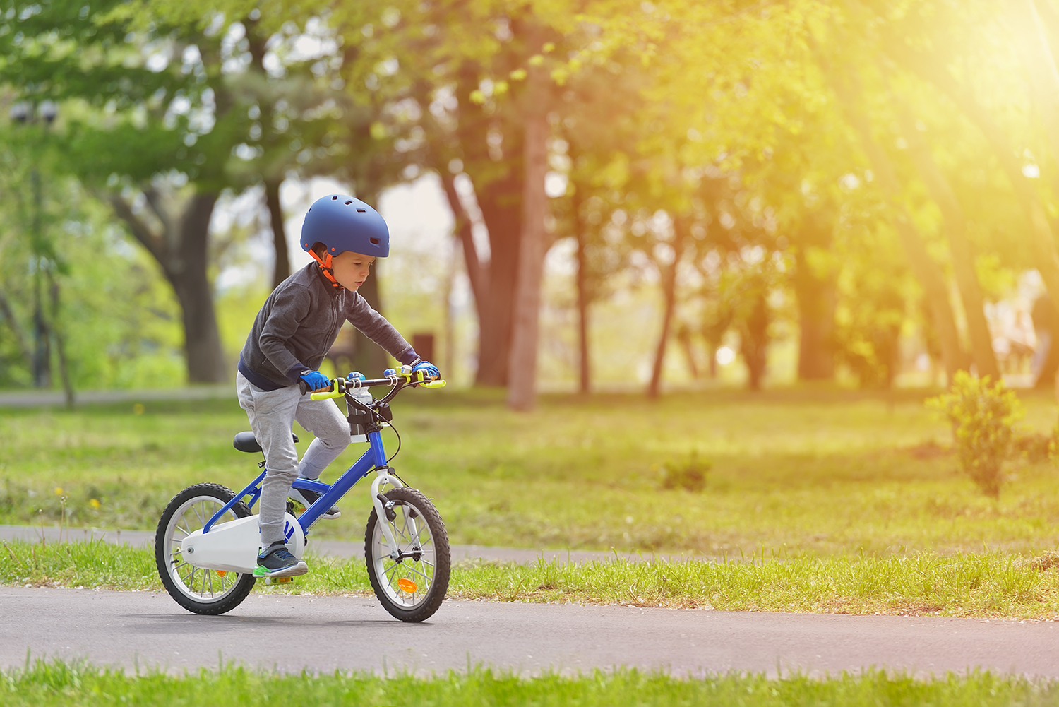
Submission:
<svg viewBox="0 0 1059 707">
<path fill-rule="evenodd" d="M 958 371 L 952 389 L 927 401 L 952 423 L 956 454 L 964 473 L 991 497 L 1000 497 L 1003 464 L 1011 446 L 1013 425 L 1022 417 L 1022 404 L 1003 381 L 989 385 L 989 376 L 977 378 Z"/>
</svg>

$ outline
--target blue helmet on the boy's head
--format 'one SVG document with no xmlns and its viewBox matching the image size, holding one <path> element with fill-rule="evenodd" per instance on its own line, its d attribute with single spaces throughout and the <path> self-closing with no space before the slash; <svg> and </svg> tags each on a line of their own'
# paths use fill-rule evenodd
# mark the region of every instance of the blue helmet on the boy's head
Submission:
<svg viewBox="0 0 1059 707">
<path fill-rule="evenodd" d="M 385 258 L 390 254 L 390 229 L 379 212 L 360 199 L 330 194 L 309 207 L 302 224 L 301 243 L 302 249 L 309 254 L 315 244 L 322 243 L 330 257 L 352 250 Z"/>
</svg>

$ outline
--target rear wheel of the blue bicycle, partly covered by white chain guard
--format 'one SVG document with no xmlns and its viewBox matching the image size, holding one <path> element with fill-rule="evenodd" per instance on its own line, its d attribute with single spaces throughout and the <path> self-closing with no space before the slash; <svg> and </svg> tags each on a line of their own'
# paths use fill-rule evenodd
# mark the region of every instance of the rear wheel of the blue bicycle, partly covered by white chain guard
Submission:
<svg viewBox="0 0 1059 707">
<path fill-rule="evenodd" d="M 178 493 L 158 522 L 155 562 L 165 590 L 178 604 L 196 614 L 223 614 L 247 598 L 254 586 L 253 575 L 202 569 L 184 561 L 181 543 L 205 526 L 235 493 L 218 483 L 199 483 Z M 251 515 L 243 501 L 235 503 L 217 523 Z"/>
</svg>

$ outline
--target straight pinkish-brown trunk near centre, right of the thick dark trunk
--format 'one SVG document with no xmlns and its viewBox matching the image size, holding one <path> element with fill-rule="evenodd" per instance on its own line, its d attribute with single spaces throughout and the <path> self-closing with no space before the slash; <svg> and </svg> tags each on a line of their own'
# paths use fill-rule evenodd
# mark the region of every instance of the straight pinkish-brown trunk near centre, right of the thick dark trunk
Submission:
<svg viewBox="0 0 1059 707">
<path fill-rule="evenodd" d="M 522 195 L 522 229 L 518 251 L 514 325 L 507 375 L 507 405 L 531 410 L 537 402 L 537 338 L 540 323 L 540 285 L 544 269 L 544 216 L 548 194 L 548 82 L 540 67 L 532 67 L 526 78 L 525 179 Z M 491 229 L 490 229 L 491 231 Z M 496 267 L 493 253 L 493 267 Z M 496 279 L 492 280 L 497 282 Z M 491 293 L 496 299 L 496 288 Z"/>
</svg>

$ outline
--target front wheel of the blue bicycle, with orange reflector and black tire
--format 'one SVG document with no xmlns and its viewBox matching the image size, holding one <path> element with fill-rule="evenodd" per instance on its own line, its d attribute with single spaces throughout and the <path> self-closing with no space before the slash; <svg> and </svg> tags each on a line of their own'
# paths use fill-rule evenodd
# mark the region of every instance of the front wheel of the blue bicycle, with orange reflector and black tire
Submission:
<svg viewBox="0 0 1059 707">
<path fill-rule="evenodd" d="M 379 520 L 375 509 L 364 533 L 364 559 L 375 596 L 401 621 L 424 621 L 442 605 L 449 589 L 449 536 L 437 509 L 415 489 L 402 487 L 383 494 L 393 502 L 394 518 Z M 382 534 L 390 526 L 398 556 Z"/>
</svg>

